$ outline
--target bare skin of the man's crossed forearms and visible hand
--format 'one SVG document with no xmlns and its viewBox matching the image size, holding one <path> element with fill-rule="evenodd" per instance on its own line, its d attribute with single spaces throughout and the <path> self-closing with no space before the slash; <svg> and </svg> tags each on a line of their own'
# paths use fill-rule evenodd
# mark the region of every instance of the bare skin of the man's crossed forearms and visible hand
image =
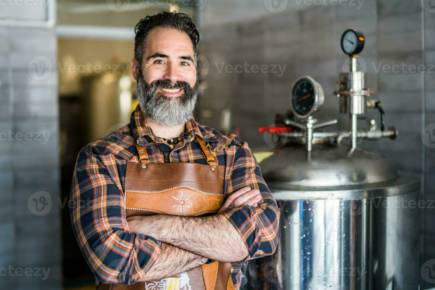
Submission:
<svg viewBox="0 0 435 290">
<path fill-rule="evenodd" d="M 219 212 L 237 206 L 257 205 L 261 198 L 258 193 L 258 190 L 240 189 L 225 201 Z M 207 258 L 234 262 L 249 254 L 237 229 L 221 213 L 202 218 L 131 216 L 127 222 L 132 233 L 145 234 L 164 242 L 159 258 L 141 281 L 160 280 L 169 277 L 168 273 L 182 273 L 204 264 Z"/>
</svg>

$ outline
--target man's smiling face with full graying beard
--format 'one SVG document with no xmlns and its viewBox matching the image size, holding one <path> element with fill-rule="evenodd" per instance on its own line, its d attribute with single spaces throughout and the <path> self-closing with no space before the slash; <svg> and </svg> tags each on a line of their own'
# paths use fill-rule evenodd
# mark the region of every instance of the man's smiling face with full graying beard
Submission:
<svg viewBox="0 0 435 290">
<path fill-rule="evenodd" d="M 193 44 L 185 32 L 150 31 L 136 91 L 142 111 L 159 125 L 181 125 L 191 118 L 199 84 Z"/>
</svg>

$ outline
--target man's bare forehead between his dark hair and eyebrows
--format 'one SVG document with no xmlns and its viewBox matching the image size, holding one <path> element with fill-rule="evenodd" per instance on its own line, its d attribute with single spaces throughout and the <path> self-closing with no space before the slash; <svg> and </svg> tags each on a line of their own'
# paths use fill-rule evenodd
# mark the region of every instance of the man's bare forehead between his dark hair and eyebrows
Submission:
<svg viewBox="0 0 435 290">
<path fill-rule="evenodd" d="M 183 54 L 193 57 L 193 44 L 190 37 L 184 31 L 172 28 L 156 27 L 151 29 L 147 37 L 147 49 L 144 57 L 156 52 L 164 54 Z"/>
</svg>

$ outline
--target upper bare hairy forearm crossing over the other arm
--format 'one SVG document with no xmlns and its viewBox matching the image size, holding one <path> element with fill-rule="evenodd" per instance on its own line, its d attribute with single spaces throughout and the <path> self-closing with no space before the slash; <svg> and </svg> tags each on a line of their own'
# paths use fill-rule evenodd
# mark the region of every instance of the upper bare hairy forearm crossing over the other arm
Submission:
<svg viewBox="0 0 435 290">
<path fill-rule="evenodd" d="M 248 256 L 244 240 L 223 214 L 138 218 L 137 233 L 146 233 L 197 255 L 222 262 L 235 262 Z"/>
</svg>

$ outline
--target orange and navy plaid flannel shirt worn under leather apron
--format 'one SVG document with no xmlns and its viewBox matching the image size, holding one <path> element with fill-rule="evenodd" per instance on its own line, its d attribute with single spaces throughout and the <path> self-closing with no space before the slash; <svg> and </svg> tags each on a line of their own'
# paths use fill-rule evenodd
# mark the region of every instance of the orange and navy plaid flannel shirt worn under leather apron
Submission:
<svg viewBox="0 0 435 290">
<path fill-rule="evenodd" d="M 200 125 L 194 117 L 187 121 L 185 128 L 188 137 L 171 149 L 162 138 L 153 135 L 137 106 L 130 124 L 79 152 L 70 192 L 70 199 L 77 207 L 70 209 L 70 217 L 80 249 L 95 275 L 96 286 L 140 281 L 161 252 L 161 241 L 128 231 L 124 179 L 127 162 L 139 162 L 135 140 L 149 151 L 150 163 L 207 164 L 200 145 L 192 142 L 194 135 L 198 135 L 211 146 L 218 165 L 225 165 L 225 198 L 245 186 L 260 190 L 259 207 L 244 206 L 224 213 L 249 249 L 248 257 L 231 265 L 236 289 L 241 285 L 242 263 L 246 265 L 248 260 L 274 253 L 280 212 L 248 143 L 237 135 Z"/>
</svg>

